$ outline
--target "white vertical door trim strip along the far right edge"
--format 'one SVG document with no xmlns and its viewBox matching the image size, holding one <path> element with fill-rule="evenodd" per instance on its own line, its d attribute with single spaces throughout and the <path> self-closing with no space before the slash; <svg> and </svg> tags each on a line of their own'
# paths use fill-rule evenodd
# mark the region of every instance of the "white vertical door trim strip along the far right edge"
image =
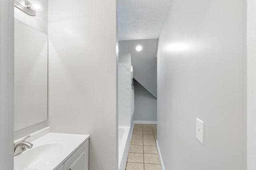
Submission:
<svg viewBox="0 0 256 170">
<path fill-rule="evenodd" d="M 256 3 L 247 6 L 247 170 L 256 170 Z"/>
</svg>

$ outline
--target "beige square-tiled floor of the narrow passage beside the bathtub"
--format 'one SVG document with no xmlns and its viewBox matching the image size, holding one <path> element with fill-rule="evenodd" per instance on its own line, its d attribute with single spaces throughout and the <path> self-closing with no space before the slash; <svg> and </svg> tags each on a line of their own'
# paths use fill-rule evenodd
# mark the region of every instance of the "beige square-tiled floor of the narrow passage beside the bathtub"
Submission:
<svg viewBox="0 0 256 170">
<path fill-rule="evenodd" d="M 126 170 L 162 170 L 156 148 L 156 125 L 134 125 Z"/>
</svg>

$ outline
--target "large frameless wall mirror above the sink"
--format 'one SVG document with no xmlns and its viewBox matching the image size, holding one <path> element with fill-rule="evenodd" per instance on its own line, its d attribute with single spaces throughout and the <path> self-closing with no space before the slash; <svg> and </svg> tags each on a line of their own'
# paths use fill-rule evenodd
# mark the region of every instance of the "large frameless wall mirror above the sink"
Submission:
<svg viewBox="0 0 256 170">
<path fill-rule="evenodd" d="M 15 19 L 14 131 L 47 120 L 47 35 Z"/>
</svg>

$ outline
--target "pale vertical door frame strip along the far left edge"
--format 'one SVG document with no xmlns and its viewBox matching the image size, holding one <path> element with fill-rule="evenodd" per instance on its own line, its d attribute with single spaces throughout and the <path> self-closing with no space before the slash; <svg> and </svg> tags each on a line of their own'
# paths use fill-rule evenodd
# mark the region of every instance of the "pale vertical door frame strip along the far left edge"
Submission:
<svg viewBox="0 0 256 170">
<path fill-rule="evenodd" d="M 13 169 L 14 131 L 14 9 L 0 1 L 0 167 Z"/>
</svg>

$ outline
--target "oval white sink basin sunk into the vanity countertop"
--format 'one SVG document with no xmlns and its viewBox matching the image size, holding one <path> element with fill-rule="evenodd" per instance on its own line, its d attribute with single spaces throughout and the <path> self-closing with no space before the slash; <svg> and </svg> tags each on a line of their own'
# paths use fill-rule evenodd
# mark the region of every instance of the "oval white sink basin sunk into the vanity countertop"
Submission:
<svg viewBox="0 0 256 170">
<path fill-rule="evenodd" d="M 61 154 L 63 149 L 64 146 L 58 143 L 44 144 L 27 149 L 14 157 L 14 169 L 44 170 L 56 160 L 54 154 Z"/>
</svg>

